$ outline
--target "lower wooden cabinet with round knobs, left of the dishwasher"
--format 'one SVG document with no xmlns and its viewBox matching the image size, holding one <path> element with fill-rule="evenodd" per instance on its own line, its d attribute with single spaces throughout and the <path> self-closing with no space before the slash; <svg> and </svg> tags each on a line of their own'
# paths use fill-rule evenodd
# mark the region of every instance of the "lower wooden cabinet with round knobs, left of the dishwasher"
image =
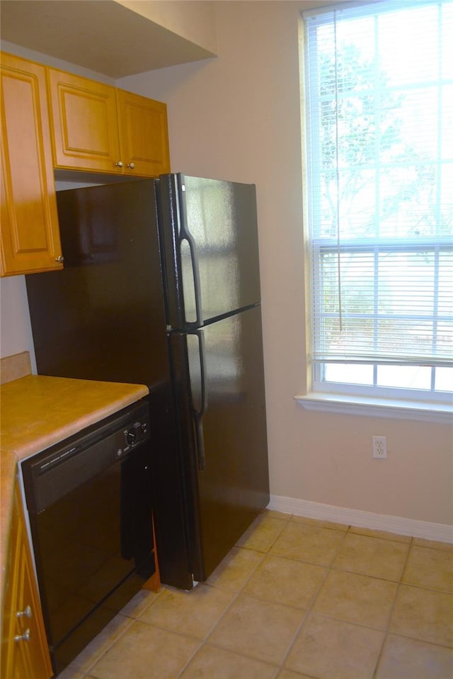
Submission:
<svg viewBox="0 0 453 679">
<path fill-rule="evenodd" d="M 1 679 L 52 677 L 21 495 L 14 493 L 1 625 Z"/>
</svg>

